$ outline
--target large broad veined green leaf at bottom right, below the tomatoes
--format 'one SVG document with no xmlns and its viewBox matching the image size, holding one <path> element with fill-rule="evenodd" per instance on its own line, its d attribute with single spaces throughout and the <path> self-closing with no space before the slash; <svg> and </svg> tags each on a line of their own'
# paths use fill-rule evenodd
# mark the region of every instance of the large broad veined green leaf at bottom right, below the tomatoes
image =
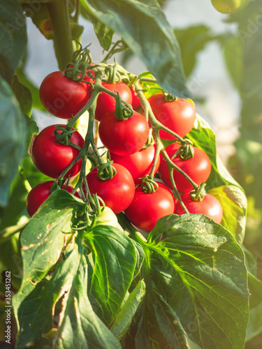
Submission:
<svg viewBox="0 0 262 349">
<path fill-rule="evenodd" d="M 201 214 L 170 215 L 140 244 L 147 292 L 130 347 L 244 348 L 247 269 L 231 233 Z"/>
</svg>

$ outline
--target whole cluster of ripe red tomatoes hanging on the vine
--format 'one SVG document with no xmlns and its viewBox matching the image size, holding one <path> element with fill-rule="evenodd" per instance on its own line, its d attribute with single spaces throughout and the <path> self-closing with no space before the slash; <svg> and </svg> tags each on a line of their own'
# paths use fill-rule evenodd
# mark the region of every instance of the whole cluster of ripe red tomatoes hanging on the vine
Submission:
<svg viewBox="0 0 262 349">
<path fill-rule="evenodd" d="M 94 83 L 94 77 L 89 76 L 86 76 L 85 80 Z M 101 142 L 110 154 L 113 177 L 103 180 L 99 176 L 99 165 L 93 168 L 86 175 L 89 192 L 91 195 L 99 195 L 115 214 L 124 211 L 133 225 L 150 231 L 159 218 L 173 213 L 184 214 L 184 209 L 171 191 L 173 186 L 166 158 L 160 155 L 154 163 L 156 146 L 147 144 L 151 125 L 143 114 L 138 112 L 142 108 L 136 91 L 124 82 L 103 82 L 103 87 L 117 92 L 122 101 L 132 105 L 134 112 L 128 119 L 118 119 L 115 114 L 116 98 L 107 94 L 105 90 L 99 94 L 94 117 L 99 121 Z M 75 116 L 87 104 L 91 94 L 92 87 L 89 84 L 69 80 L 64 72 L 51 73 L 45 77 L 40 88 L 40 97 L 45 108 L 64 119 Z M 158 93 L 151 96 L 148 102 L 157 120 L 180 137 L 184 137 L 193 128 L 196 110 L 190 101 L 180 98 L 166 101 L 163 93 Z M 32 147 L 32 159 L 38 170 L 54 179 L 64 173 L 72 161 L 73 165 L 64 173 L 64 178 L 78 174 L 82 165 L 82 158 L 78 161 L 75 159 L 84 147 L 85 140 L 78 131 L 72 130 L 69 143 L 59 142 L 59 134 L 62 134 L 62 128 L 65 127 L 52 125 L 44 128 L 34 140 Z M 163 140 L 175 140 L 173 135 L 162 129 L 159 135 Z M 174 142 L 166 147 L 166 154 L 192 181 L 200 185 L 208 179 L 211 164 L 201 149 L 193 148 L 194 156 L 183 159 L 178 151 L 180 144 Z M 157 178 L 160 177 L 161 181 L 156 179 L 154 190 L 145 192 L 141 182 L 145 184 L 145 178 L 152 172 L 153 163 L 154 174 Z M 191 181 L 180 172 L 174 169 L 173 177 L 189 213 L 202 213 L 220 223 L 223 211 L 219 201 L 209 194 L 201 198 L 202 200 L 194 200 L 191 195 Z M 50 188 L 54 182 L 38 184 L 31 190 L 27 198 L 30 216 L 50 195 Z M 73 191 L 71 186 L 64 188 L 69 192 Z M 86 186 L 83 185 L 82 189 L 86 194 Z M 79 196 L 77 192 L 75 195 Z"/>
</svg>

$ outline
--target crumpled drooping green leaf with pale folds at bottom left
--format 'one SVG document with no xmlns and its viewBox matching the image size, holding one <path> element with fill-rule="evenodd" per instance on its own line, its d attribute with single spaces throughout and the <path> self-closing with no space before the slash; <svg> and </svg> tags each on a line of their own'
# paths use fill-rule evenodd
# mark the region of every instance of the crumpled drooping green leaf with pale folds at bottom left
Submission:
<svg viewBox="0 0 262 349">
<path fill-rule="evenodd" d="M 87 261 L 81 237 L 64 262 L 60 262 L 52 279 L 27 283 L 31 292 L 24 298 L 22 290 L 15 295 L 15 309 L 20 323 L 17 349 L 33 346 L 43 334 L 50 332 L 54 320 L 54 306 L 62 299 L 59 324 L 53 348 L 120 348 L 119 342 L 94 313 L 87 297 Z M 30 280 L 31 281 L 31 280 Z M 22 302 L 21 302 L 22 298 Z"/>
</svg>

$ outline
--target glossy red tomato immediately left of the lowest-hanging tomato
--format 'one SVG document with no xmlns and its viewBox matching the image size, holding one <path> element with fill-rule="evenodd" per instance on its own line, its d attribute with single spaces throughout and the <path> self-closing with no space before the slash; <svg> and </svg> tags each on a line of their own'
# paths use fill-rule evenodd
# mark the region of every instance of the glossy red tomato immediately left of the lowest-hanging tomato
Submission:
<svg viewBox="0 0 262 349">
<path fill-rule="evenodd" d="M 97 177 L 97 169 L 93 168 L 87 174 L 87 184 L 91 195 L 97 194 L 105 202 L 105 206 L 110 207 L 115 214 L 124 211 L 128 207 L 135 193 L 135 184 L 130 172 L 122 165 L 114 164 L 117 170 L 112 179 L 101 181 Z M 85 192 L 85 186 L 83 186 Z"/>
</svg>

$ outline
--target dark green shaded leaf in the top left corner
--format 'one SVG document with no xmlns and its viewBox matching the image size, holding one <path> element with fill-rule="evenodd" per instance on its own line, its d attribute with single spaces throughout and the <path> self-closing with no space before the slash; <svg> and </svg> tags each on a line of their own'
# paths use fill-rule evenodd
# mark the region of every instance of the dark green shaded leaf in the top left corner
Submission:
<svg viewBox="0 0 262 349">
<path fill-rule="evenodd" d="M 0 75 L 10 84 L 27 45 L 27 28 L 18 0 L 1 0 L 0 13 Z"/>
</svg>

